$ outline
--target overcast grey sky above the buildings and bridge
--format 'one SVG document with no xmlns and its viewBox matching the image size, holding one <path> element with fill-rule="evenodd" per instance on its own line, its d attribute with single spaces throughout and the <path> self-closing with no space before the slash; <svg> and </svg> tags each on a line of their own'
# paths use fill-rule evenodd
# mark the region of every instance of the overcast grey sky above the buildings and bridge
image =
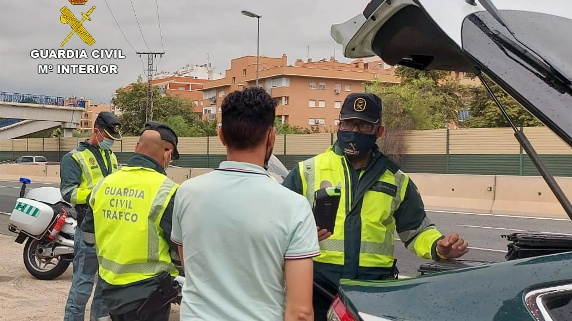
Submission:
<svg viewBox="0 0 572 321">
<path fill-rule="evenodd" d="M 136 15 L 142 34 L 137 25 Z M 288 62 L 305 59 L 307 47 L 314 60 L 329 58 L 341 46 L 335 46 L 329 35 L 332 23 L 344 22 L 360 13 L 368 0 L 158 0 L 161 33 L 156 0 L 89 0 L 86 5 L 71 5 L 67 0 L 14 1 L 0 0 L 0 91 L 54 96 L 85 96 L 94 102 L 109 103 L 110 95 L 142 75 L 146 56 L 135 51 L 162 51 L 165 56 L 158 70 L 174 71 L 185 64 L 210 63 L 223 72 L 230 60 L 256 55 L 256 19 L 240 14 L 249 10 L 260 19 L 260 54 L 288 55 Z M 63 24 L 59 10 L 67 6 L 80 19 L 81 13 L 96 6 L 85 21 L 85 29 L 96 40 L 91 47 L 74 34 L 61 47 L 72 31 Z M 112 13 L 123 30 L 121 34 Z M 161 34 L 162 43 L 161 44 Z M 145 41 L 146 40 L 146 44 Z M 134 49 L 133 49 L 133 48 Z M 34 49 L 121 49 L 125 59 L 33 59 Z M 117 64 L 116 75 L 38 74 L 38 64 Z"/>
</svg>

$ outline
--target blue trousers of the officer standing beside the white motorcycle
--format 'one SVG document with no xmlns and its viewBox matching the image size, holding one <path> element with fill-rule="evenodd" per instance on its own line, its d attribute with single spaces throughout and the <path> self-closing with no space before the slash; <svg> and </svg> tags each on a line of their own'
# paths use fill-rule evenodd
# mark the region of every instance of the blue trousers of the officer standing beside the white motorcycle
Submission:
<svg viewBox="0 0 572 321">
<path fill-rule="evenodd" d="M 93 283 L 98 269 L 96 249 L 84 243 L 81 229 L 76 227 L 74 238 L 73 279 L 67 296 L 63 321 L 84 321 L 85 307 L 92 295 Z M 108 308 L 101 299 L 101 282 L 97 282 L 93 294 L 90 321 L 98 321 L 109 315 Z"/>
</svg>

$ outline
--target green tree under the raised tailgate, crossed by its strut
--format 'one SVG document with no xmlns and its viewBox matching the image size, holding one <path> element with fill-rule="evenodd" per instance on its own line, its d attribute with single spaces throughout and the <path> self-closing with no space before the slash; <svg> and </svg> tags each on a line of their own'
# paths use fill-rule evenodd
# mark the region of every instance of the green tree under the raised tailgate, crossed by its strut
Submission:
<svg viewBox="0 0 572 321">
<path fill-rule="evenodd" d="M 505 107 L 507 113 L 517 126 L 542 126 L 542 123 L 525 108 L 522 107 L 513 97 L 506 94 L 501 87 L 496 86 L 487 79 L 487 84 L 492 92 Z M 502 115 L 501 109 L 496 105 L 492 97 L 484 86 L 466 90 L 466 95 L 470 97 L 468 109 L 470 117 L 463 121 L 463 127 L 486 128 L 486 127 L 509 127 L 509 121 Z"/>
</svg>

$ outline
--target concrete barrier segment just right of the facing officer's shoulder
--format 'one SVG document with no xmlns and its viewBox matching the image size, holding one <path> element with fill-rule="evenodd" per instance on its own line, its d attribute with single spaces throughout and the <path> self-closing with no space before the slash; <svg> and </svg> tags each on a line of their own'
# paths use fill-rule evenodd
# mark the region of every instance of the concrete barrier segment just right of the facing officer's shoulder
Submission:
<svg viewBox="0 0 572 321">
<path fill-rule="evenodd" d="M 409 174 L 426 209 L 490 213 L 494 175 Z"/>
</svg>

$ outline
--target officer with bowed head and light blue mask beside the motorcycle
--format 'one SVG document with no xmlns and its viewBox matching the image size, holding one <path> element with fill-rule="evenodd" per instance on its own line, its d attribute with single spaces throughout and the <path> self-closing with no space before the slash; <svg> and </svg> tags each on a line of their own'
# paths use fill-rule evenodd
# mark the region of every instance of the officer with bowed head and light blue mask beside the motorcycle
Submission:
<svg viewBox="0 0 572 321">
<path fill-rule="evenodd" d="M 92 136 L 62 157 L 59 169 L 61 194 L 65 201 L 75 204 L 78 228 L 74 238 L 73 279 L 65 308 L 64 321 L 84 321 L 85 307 L 92 295 L 97 272 L 96 251 L 82 242 L 81 224 L 87 209 L 86 197 L 102 178 L 117 171 L 117 157 L 111 151 L 121 140 L 121 124 L 110 112 L 97 116 Z M 101 299 L 97 282 L 93 295 L 90 320 L 107 320 L 108 310 Z"/>
</svg>

